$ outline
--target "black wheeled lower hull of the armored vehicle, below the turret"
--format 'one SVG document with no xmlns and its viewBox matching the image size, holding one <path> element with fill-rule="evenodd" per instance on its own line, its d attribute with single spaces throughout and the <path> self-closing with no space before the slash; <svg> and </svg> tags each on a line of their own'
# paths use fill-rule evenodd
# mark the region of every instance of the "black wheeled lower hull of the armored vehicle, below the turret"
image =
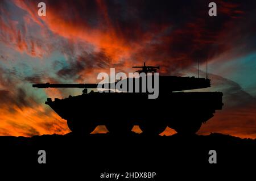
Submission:
<svg viewBox="0 0 256 181">
<path fill-rule="evenodd" d="M 144 132 L 159 133 L 168 126 L 180 133 L 195 133 L 223 105 L 222 92 L 170 92 L 157 99 L 148 99 L 146 93 L 90 92 L 48 99 L 46 104 L 68 121 L 73 132 L 87 133 L 97 125 L 113 128 L 113 132 L 139 125 Z M 90 129 L 82 131 L 82 127 Z"/>
</svg>

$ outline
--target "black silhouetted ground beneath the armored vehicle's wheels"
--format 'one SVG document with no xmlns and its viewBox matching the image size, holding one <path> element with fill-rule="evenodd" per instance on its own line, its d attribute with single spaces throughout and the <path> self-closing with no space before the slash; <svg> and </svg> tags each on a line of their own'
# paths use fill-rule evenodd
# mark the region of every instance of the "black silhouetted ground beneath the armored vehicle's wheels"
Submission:
<svg viewBox="0 0 256 181">
<path fill-rule="evenodd" d="M 190 137 L 146 137 L 135 133 L 126 137 L 108 133 L 88 137 L 71 133 L 31 138 L 1 136 L 0 144 L 1 165 L 5 168 L 26 168 L 28 173 L 31 168 L 36 172 L 43 169 L 44 176 L 80 175 L 80 180 L 115 180 L 101 179 L 104 172 L 156 172 L 154 179 L 118 180 L 170 180 L 174 175 L 182 178 L 202 172 L 234 175 L 228 170 L 255 169 L 256 163 L 256 140 L 218 133 Z M 42 149 L 46 150 L 46 164 L 38 163 L 38 150 Z M 217 164 L 208 162 L 208 151 L 212 149 L 217 151 Z"/>
</svg>

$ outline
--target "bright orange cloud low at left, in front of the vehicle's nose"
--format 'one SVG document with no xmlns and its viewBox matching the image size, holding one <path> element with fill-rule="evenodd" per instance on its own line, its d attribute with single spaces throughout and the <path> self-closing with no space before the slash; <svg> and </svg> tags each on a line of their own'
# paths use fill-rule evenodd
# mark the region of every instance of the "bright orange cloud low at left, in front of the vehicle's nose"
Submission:
<svg viewBox="0 0 256 181">
<path fill-rule="evenodd" d="M 42 134 L 65 134 L 69 132 L 66 121 L 54 112 L 46 112 L 43 106 L 0 109 L 0 135 L 34 136 Z"/>
</svg>

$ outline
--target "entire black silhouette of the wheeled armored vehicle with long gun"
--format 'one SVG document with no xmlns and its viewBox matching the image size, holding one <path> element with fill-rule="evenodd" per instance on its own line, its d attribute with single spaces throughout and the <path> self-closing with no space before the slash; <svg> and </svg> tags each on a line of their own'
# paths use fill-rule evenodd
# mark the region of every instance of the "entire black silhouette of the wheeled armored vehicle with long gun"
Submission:
<svg viewBox="0 0 256 181">
<path fill-rule="evenodd" d="M 154 78 L 159 69 L 158 66 L 145 64 L 133 68 L 141 68 L 137 72 L 146 74 L 147 81 L 150 76 Z M 131 78 L 120 81 L 128 79 Z M 128 134 L 134 125 L 138 125 L 143 134 L 147 135 L 162 133 L 167 126 L 179 134 L 194 134 L 199 131 L 202 123 L 213 117 L 216 110 L 222 109 L 222 92 L 183 92 L 210 87 L 208 78 L 159 75 L 159 95 L 156 99 L 148 99 L 152 93 L 142 92 L 141 77 L 132 79 L 134 82 L 139 80 L 139 92 L 109 89 L 108 92 L 87 93 L 87 89 L 96 89 L 98 83 L 39 83 L 32 86 L 84 89 L 81 95 L 55 98 L 54 101 L 48 98 L 46 102 L 60 117 L 67 120 L 69 129 L 76 134 L 89 134 L 98 125 L 105 125 L 114 134 Z M 111 87 L 118 82 L 109 83 L 108 86 L 105 83 L 103 87 Z"/>
</svg>

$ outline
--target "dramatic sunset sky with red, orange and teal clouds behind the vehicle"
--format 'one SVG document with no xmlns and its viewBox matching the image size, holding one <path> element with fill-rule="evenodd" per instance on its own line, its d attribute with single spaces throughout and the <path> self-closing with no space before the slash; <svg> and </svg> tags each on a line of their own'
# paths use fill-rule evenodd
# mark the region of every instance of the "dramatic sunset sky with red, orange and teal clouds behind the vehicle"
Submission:
<svg viewBox="0 0 256 181">
<path fill-rule="evenodd" d="M 39 2 L 46 16 L 38 16 Z M 69 132 L 44 102 L 81 90 L 32 83 L 96 82 L 102 71 L 127 73 L 143 61 L 183 76 L 197 75 L 200 61 L 205 77 L 208 57 L 212 87 L 204 91 L 222 91 L 224 108 L 199 134 L 256 138 L 256 1 L 213 1 L 216 17 L 209 2 L 1 0 L 0 135 Z"/>
</svg>

